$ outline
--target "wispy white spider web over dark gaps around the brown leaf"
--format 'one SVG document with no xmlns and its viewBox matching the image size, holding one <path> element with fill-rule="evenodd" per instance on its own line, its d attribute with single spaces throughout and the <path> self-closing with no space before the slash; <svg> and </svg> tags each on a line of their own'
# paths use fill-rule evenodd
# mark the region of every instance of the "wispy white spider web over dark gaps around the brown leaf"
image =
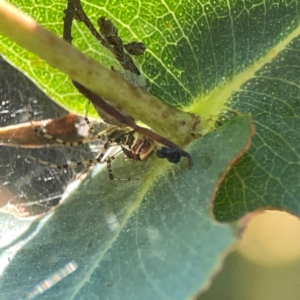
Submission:
<svg viewBox="0 0 300 300">
<path fill-rule="evenodd" d="M 68 112 L 51 101 L 28 78 L 0 58 L 0 127 L 28 122 L 28 112 L 34 120 L 56 119 Z M 85 124 L 86 125 L 86 124 Z M 98 142 L 99 144 L 99 142 Z M 21 215 L 36 215 L 56 206 L 67 186 L 88 171 L 85 166 L 53 169 L 30 160 L 28 155 L 54 164 L 82 161 L 95 157 L 96 148 L 85 144 L 64 145 L 41 149 L 0 146 L 0 208 Z"/>
</svg>

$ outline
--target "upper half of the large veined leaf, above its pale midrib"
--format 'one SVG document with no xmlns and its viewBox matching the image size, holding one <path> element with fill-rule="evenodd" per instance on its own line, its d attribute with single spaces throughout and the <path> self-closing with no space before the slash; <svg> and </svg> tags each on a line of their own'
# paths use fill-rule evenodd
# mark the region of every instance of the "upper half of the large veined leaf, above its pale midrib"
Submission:
<svg viewBox="0 0 300 300">
<path fill-rule="evenodd" d="M 11 2 L 62 36 L 65 1 Z M 270 50 L 296 34 L 299 22 L 297 1 L 257 5 L 237 1 L 229 6 L 227 1 L 130 1 L 108 2 L 104 6 L 89 1 L 83 6 L 95 26 L 99 16 L 106 16 L 114 21 L 124 41 L 141 40 L 146 44 L 146 55 L 137 61 L 151 81 L 152 93 L 180 107 L 197 103 L 197 99 L 233 79 L 236 88 L 240 87 L 243 81 L 235 76 L 255 67 L 258 58 L 269 59 Z M 73 43 L 79 49 L 107 66 L 115 65 L 112 56 L 83 24 L 75 22 L 73 33 Z M 55 70 L 45 72 L 45 68 L 49 70 L 45 63 L 7 39 L 1 39 L 1 46 L 9 59 L 47 87 L 57 100 L 70 102 L 68 105 L 74 107 L 67 78 L 63 79 Z"/>
</svg>

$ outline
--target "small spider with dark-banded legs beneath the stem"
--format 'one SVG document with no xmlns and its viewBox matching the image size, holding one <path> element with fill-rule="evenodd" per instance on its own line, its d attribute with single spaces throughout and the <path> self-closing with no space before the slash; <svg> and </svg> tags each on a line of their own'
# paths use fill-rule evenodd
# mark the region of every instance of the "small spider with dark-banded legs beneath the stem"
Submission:
<svg viewBox="0 0 300 300">
<path fill-rule="evenodd" d="M 93 142 L 95 140 L 107 140 L 106 143 L 103 146 L 102 151 L 96 157 L 95 159 L 90 160 L 84 160 L 84 161 L 78 161 L 78 162 L 72 162 L 68 164 L 61 164 L 56 165 L 41 159 L 38 159 L 36 157 L 33 157 L 31 155 L 28 155 L 27 157 L 35 160 L 41 164 L 48 165 L 52 168 L 64 170 L 68 169 L 70 167 L 76 167 L 80 165 L 96 165 L 96 164 L 106 164 L 109 174 L 110 180 L 137 180 L 138 178 L 116 178 L 112 171 L 111 163 L 112 161 L 121 153 L 124 153 L 125 156 L 129 159 L 133 160 L 146 160 L 150 157 L 150 155 L 155 151 L 157 143 L 153 141 L 152 139 L 141 135 L 137 131 L 133 130 L 129 126 L 109 126 L 107 129 L 101 131 L 100 133 L 97 133 L 92 124 L 90 123 L 87 113 L 85 116 L 85 121 L 87 125 L 89 126 L 92 136 L 78 140 L 75 142 L 69 142 L 64 141 L 63 139 L 56 138 L 47 132 L 43 130 L 40 126 L 35 126 L 34 121 L 32 120 L 31 114 L 28 111 L 28 108 L 26 104 L 24 103 L 22 94 L 20 94 L 21 101 L 23 102 L 23 105 L 27 111 L 29 121 L 31 123 L 31 126 L 33 127 L 34 132 L 37 135 L 43 136 L 46 139 L 55 141 L 59 144 L 65 145 L 67 147 L 76 147 L 79 145 L 83 145 L 86 143 Z M 87 110 L 88 111 L 88 110 Z M 109 153 L 109 150 L 112 150 L 111 153 Z M 160 150 L 157 150 L 157 156 L 160 158 L 167 158 L 170 162 L 177 163 L 181 156 L 174 159 L 174 151 L 172 151 L 171 148 L 162 147 Z M 175 156 L 178 156 L 177 152 L 175 153 Z"/>
</svg>

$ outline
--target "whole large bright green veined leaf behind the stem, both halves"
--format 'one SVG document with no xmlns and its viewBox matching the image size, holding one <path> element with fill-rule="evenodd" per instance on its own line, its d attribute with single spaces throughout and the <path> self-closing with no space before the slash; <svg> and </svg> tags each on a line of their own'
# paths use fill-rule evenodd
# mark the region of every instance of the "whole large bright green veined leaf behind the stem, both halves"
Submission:
<svg viewBox="0 0 300 300">
<path fill-rule="evenodd" d="M 61 35 L 64 2 L 14 3 Z M 298 1 L 84 3 L 94 24 L 104 15 L 114 21 L 125 41 L 147 45 L 145 57 L 136 61 L 151 92 L 200 115 L 207 131 L 214 128 L 219 114 L 227 120 L 237 112 L 252 113 L 257 135 L 221 185 L 214 205 L 219 221 L 237 220 L 262 207 L 299 215 L 298 7 Z M 84 110 L 64 75 L 7 39 L 0 43 L 5 55 L 50 95 Z M 74 44 L 105 65 L 115 65 L 82 24 L 75 24 Z M 233 147 L 224 139 L 211 149 Z M 202 170 L 199 165 L 197 169 Z"/>
</svg>

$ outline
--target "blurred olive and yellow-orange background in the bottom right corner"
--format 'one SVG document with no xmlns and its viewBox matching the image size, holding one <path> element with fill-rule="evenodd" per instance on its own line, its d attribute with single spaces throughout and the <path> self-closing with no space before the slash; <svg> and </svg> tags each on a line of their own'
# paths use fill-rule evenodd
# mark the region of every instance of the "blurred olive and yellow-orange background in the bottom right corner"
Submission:
<svg viewBox="0 0 300 300">
<path fill-rule="evenodd" d="M 300 220 L 286 212 L 258 213 L 201 300 L 298 300 Z"/>
</svg>

